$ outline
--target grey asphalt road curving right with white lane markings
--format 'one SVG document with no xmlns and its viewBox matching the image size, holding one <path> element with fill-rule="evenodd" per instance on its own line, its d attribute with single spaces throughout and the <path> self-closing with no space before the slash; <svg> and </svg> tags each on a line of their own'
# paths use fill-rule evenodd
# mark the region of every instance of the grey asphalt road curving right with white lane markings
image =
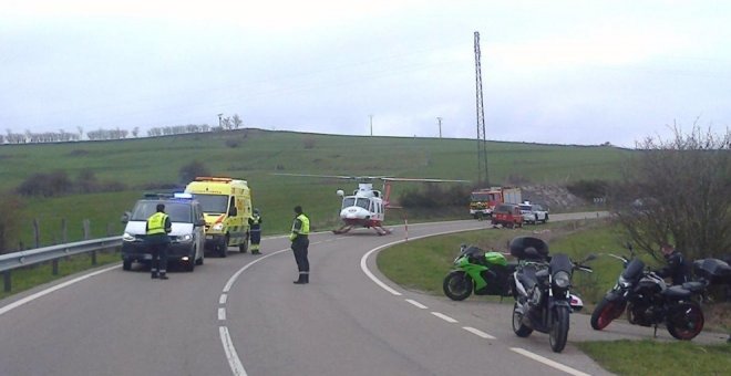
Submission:
<svg viewBox="0 0 731 376">
<path fill-rule="evenodd" d="M 545 334 L 513 334 L 509 304 L 452 302 L 383 278 L 378 250 L 404 237 L 403 227 L 312 234 L 308 285 L 291 283 L 294 257 L 277 237 L 262 241 L 264 255 L 206 258 L 167 281 L 114 265 L 18 294 L 0 302 L 0 375 L 603 375 L 570 341 L 646 330 L 599 333 L 573 315 L 555 354 Z"/>
</svg>

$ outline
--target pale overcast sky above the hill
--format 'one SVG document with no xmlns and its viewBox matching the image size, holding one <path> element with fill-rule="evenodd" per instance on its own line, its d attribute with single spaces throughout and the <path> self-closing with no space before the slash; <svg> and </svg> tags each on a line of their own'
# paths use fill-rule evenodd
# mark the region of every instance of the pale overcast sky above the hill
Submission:
<svg viewBox="0 0 731 376">
<path fill-rule="evenodd" d="M 0 134 L 208 124 L 634 147 L 731 124 L 731 2 L 0 0 Z M 441 118 L 441 126 L 440 121 Z"/>
</svg>

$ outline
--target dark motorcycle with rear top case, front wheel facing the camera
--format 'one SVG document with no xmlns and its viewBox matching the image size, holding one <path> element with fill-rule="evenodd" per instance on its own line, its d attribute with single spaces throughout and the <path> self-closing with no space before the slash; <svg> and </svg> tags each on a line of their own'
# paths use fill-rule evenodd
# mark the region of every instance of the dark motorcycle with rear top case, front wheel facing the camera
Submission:
<svg viewBox="0 0 731 376">
<path fill-rule="evenodd" d="M 583 263 L 596 255 L 589 254 L 580 262 L 573 262 L 563 253 L 549 257 L 548 244 L 532 237 L 515 238 L 509 248 L 518 259 L 512 280 L 513 332 L 518 337 L 527 337 L 533 331 L 548 333 L 550 348 L 560 353 L 568 340 L 568 316 L 584 306 L 580 297 L 570 292 L 573 272 L 591 272 Z"/>
</svg>

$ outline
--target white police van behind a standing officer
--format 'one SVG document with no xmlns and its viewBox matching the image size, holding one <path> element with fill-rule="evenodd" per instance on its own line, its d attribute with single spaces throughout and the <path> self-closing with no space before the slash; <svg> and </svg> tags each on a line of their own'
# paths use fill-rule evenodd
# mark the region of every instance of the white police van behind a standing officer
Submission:
<svg viewBox="0 0 731 376">
<path fill-rule="evenodd" d="M 173 224 L 168 233 L 172 242 L 167 252 L 168 262 L 179 262 L 192 272 L 195 265 L 203 264 L 206 222 L 200 203 L 189 194 L 145 195 L 131 212 L 122 216 L 122 222 L 126 223 L 122 236 L 122 269 L 131 270 L 133 262 L 150 265 L 152 254 L 145 242 L 145 228 L 147 218 L 157 211 L 158 203 L 165 205 L 165 212 Z"/>
</svg>

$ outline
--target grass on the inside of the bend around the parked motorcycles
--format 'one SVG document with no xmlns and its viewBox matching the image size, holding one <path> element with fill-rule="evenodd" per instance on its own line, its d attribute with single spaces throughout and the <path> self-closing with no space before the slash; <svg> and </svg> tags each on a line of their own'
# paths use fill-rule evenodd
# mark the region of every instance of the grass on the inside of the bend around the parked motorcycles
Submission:
<svg viewBox="0 0 731 376">
<path fill-rule="evenodd" d="M 589 264 L 594 273 L 574 273 L 574 292 L 583 297 L 585 311 L 591 312 L 596 302 L 615 283 L 621 264 L 604 253 L 625 253 L 621 231 L 607 220 L 554 222 L 518 230 L 465 231 L 400 243 L 381 251 L 377 258 L 379 270 L 405 289 L 443 295 L 442 281 L 452 270 L 452 260 L 461 243 L 475 244 L 484 250 L 506 252 L 506 242 L 518 236 L 534 236 L 548 242 L 550 252 L 563 252 L 573 259 L 589 253 L 599 258 Z M 508 260 L 511 258 L 508 257 Z M 651 262 L 651 260 L 646 260 Z M 652 263 L 650 263 L 652 264 Z M 498 297 L 470 296 L 471 300 L 497 302 Z M 512 302 L 506 297 L 503 302 Z M 723 310 L 722 304 L 718 307 Z M 728 330 L 728 312 L 715 313 L 704 307 L 707 330 Z M 579 348 L 607 370 L 618 375 L 728 375 L 731 366 L 731 344 L 707 346 L 693 342 L 616 341 L 579 343 Z"/>
</svg>

